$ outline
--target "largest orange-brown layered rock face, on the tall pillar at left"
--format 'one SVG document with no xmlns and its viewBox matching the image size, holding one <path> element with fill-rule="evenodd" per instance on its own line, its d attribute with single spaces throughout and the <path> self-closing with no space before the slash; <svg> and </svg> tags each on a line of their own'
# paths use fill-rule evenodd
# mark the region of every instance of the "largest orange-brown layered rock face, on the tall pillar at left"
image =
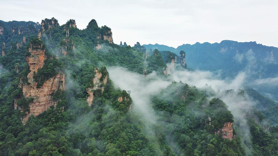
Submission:
<svg viewBox="0 0 278 156">
<path fill-rule="evenodd" d="M 55 106 L 58 101 L 54 101 L 52 95 L 58 90 L 63 90 L 65 85 L 65 75 L 59 72 L 57 75 L 46 80 L 40 88 L 37 88 L 38 83 L 33 79 L 33 75 L 34 72 L 43 67 L 44 60 L 46 59 L 45 50 L 40 44 L 30 44 L 28 52 L 31 55 L 26 56 L 26 61 L 31 72 L 27 76 L 28 84 L 23 84 L 22 91 L 25 98 L 31 97 L 34 100 L 29 104 L 30 113 L 27 112 L 27 116 L 23 118 L 23 124 L 26 123 L 31 115 L 37 116 L 50 106 Z"/>
</svg>

